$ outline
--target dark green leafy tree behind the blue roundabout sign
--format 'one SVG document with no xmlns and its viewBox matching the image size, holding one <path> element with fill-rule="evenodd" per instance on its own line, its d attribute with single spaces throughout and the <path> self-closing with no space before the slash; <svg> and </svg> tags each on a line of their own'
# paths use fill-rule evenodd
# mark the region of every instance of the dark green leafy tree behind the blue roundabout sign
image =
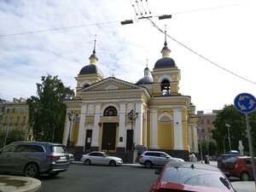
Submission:
<svg viewBox="0 0 256 192">
<path fill-rule="evenodd" d="M 250 125 L 252 127 L 252 138 L 256 138 L 256 111 L 248 114 Z M 212 130 L 212 138 L 218 144 L 218 151 L 223 152 L 230 150 L 228 128 L 230 125 L 230 143 L 231 149 L 238 150 L 239 141 L 242 141 L 245 151 L 249 151 L 247 139 L 247 125 L 245 114 L 236 109 L 234 105 L 225 105 L 224 108 L 217 114 L 217 119 L 213 122 L 216 127 Z M 253 148 L 255 150 L 256 143 L 253 140 Z"/>
</svg>

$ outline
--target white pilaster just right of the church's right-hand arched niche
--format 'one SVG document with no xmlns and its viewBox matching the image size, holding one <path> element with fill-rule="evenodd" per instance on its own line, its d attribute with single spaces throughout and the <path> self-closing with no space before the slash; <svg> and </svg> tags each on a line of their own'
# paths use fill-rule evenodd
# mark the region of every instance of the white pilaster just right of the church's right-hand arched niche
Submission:
<svg viewBox="0 0 256 192">
<path fill-rule="evenodd" d="M 183 150 L 183 124 L 181 109 L 173 110 L 174 149 Z"/>
</svg>

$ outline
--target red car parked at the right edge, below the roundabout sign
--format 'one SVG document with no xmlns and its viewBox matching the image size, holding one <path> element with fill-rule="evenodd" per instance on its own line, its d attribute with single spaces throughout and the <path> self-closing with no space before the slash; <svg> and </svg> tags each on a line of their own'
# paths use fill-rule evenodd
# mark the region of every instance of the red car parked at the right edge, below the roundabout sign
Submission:
<svg viewBox="0 0 256 192">
<path fill-rule="evenodd" d="M 242 181 L 253 179 L 252 158 L 249 156 L 231 155 L 229 158 L 221 159 L 218 168 L 227 177 L 240 177 Z"/>
</svg>

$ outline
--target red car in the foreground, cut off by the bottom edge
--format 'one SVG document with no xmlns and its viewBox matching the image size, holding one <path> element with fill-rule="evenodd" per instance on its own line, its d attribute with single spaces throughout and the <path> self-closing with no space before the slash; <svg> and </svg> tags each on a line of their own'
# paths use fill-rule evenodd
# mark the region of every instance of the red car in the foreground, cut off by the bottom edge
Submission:
<svg viewBox="0 0 256 192">
<path fill-rule="evenodd" d="M 150 192 L 195 191 L 195 192 L 236 192 L 229 179 L 218 167 L 195 162 L 169 162 L 151 186 Z"/>
</svg>

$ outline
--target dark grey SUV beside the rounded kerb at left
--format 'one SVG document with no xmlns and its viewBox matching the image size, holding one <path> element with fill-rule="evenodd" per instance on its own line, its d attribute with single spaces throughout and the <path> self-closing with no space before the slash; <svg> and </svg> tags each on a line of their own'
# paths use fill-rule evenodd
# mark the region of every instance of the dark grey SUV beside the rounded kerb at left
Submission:
<svg viewBox="0 0 256 192">
<path fill-rule="evenodd" d="M 15 142 L 0 149 L 0 172 L 56 176 L 67 171 L 69 155 L 64 145 L 46 142 Z"/>
</svg>

